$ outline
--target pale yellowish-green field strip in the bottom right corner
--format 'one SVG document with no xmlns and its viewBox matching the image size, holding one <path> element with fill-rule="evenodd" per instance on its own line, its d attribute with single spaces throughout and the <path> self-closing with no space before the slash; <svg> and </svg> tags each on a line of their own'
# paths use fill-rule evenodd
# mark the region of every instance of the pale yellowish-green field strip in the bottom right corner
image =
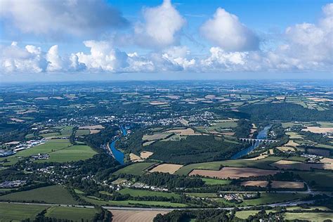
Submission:
<svg viewBox="0 0 333 222">
<path fill-rule="evenodd" d="M 286 220 L 305 220 L 305 221 L 325 221 L 332 220 L 333 213 L 322 213 L 322 212 L 302 212 L 302 213 L 285 213 Z"/>
</svg>

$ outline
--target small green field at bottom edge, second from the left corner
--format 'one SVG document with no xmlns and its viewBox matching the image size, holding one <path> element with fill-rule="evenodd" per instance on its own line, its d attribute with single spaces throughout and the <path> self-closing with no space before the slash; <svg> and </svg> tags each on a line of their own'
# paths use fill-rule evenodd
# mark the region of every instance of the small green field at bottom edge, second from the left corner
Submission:
<svg viewBox="0 0 333 222">
<path fill-rule="evenodd" d="M 93 216 L 95 216 L 95 214 L 96 209 L 57 206 L 47 209 L 45 216 L 71 221 L 93 221 Z"/>
</svg>

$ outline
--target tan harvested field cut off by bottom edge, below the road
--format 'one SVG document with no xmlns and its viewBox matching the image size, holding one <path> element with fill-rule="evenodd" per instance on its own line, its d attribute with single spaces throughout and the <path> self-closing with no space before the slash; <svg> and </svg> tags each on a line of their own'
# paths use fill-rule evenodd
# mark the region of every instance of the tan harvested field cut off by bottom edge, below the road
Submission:
<svg viewBox="0 0 333 222">
<path fill-rule="evenodd" d="M 110 210 L 113 214 L 114 222 L 148 222 L 152 221 L 157 214 L 167 214 L 169 211 L 127 211 L 127 210 Z"/>
</svg>

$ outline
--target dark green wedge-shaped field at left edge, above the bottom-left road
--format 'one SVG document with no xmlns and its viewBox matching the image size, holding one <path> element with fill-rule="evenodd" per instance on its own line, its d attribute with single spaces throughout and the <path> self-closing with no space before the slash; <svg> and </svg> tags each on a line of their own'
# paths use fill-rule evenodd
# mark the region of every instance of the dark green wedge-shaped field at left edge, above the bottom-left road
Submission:
<svg viewBox="0 0 333 222">
<path fill-rule="evenodd" d="M 50 204 L 77 204 L 65 188 L 59 185 L 51 185 L 44 188 L 13 192 L 0 196 L 0 200 L 14 202 L 46 202 Z"/>
</svg>

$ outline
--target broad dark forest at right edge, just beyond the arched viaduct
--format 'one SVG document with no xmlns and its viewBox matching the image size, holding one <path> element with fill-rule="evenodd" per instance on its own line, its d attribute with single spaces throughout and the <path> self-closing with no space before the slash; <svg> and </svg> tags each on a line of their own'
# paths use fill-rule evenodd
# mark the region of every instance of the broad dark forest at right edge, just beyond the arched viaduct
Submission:
<svg viewBox="0 0 333 222">
<path fill-rule="evenodd" d="M 265 103 L 240 107 L 241 112 L 256 120 L 332 121 L 332 110 L 310 110 L 294 103 Z"/>
</svg>

